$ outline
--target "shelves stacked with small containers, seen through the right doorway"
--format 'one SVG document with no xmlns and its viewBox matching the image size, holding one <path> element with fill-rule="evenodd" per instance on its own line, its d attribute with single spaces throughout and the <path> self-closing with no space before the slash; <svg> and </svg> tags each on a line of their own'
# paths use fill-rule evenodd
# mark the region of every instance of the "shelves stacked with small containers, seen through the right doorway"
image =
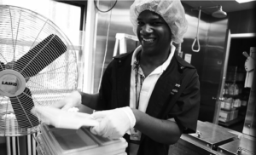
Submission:
<svg viewBox="0 0 256 155">
<path fill-rule="evenodd" d="M 244 88 L 246 72 L 238 66 L 228 66 L 218 124 L 230 127 L 245 119 L 249 91 Z"/>
</svg>

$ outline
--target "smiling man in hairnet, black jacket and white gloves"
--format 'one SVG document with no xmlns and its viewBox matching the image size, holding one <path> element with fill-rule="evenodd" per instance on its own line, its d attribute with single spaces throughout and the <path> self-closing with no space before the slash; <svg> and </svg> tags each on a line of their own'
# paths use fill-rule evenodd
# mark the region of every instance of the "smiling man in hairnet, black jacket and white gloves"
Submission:
<svg viewBox="0 0 256 155">
<path fill-rule="evenodd" d="M 167 155 L 183 133 L 195 132 L 200 83 L 194 66 L 175 53 L 187 30 L 178 0 L 135 0 L 130 9 L 141 46 L 114 57 L 96 95 L 74 91 L 54 106 L 89 106 L 99 125 L 91 132 L 124 136 L 130 155 Z"/>
</svg>

